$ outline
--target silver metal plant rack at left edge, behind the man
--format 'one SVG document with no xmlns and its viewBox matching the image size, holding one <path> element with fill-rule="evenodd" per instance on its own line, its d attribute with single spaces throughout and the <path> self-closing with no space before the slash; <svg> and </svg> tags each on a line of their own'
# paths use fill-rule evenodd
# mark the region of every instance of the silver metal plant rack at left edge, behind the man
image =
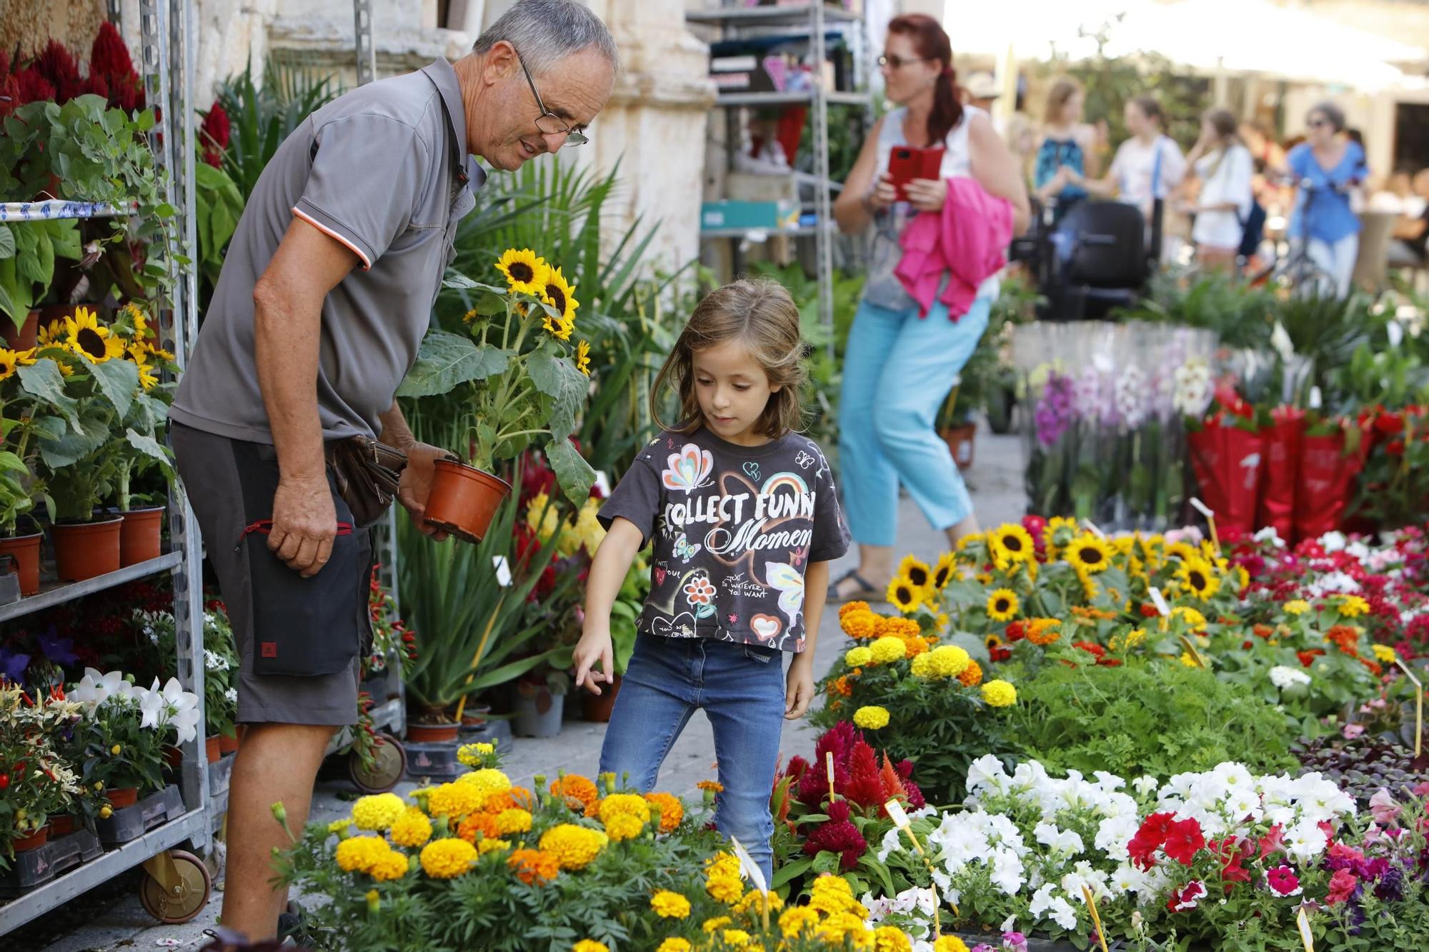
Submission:
<svg viewBox="0 0 1429 952">
<path fill-rule="evenodd" d="M 120 24 L 121 0 L 109 0 L 109 17 L 116 26 Z M 174 353 L 180 373 L 186 363 L 187 347 L 199 326 L 194 266 L 179 264 L 173 256 L 174 252 L 181 252 L 190 260 L 196 257 L 193 254 L 194 194 L 190 187 L 194 136 L 193 109 L 189 103 L 189 91 L 193 86 L 191 30 L 190 4 L 181 0 L 139 0 L 139 69 L 144 77 L 147 101 L 150 106 L 161 107 L 150 136 L 156 164 L 169 173 L 166 197 L 169 204 L 176 209 L 174 233 L 180 246 L 170 249 L 170 264 L 179 272 L 173 292 L 173 307 L 160 314 L 159 333 L 163 346 Z M 174 117 L 179 117 L 179 122 L 174 122 Z M 36 210 L 33 207 L 23 209 L 21 204 L 69 207 Z M 129 209 L 86 206 L 83 203 L 20 203 L 0 206 L 0 220 L 24 220 L 41 214 L 43 217 L 90 219 L 127 212 Z M 170 497 L 169 529 L 173 549 L 167 555 L 87 582 L 54 587 L 21 599 L 0 608 L 0 620 L 20 618 L 86 595 L 104 592 L 147 575 L 171 572 L 177 633 L 176 673 L 180 683 L 199 696 L 201 715 L 203 549 L 193 509 L 181 487 L 177 486 Z M 180 843 L 190 842 L 199 852 L 207 852 L 211 842 L 210 809 L 213 802 L 209 796 L 209 763 L 203 752 L 201 738 L 183 745 L 180 792 L 184 813 L 177 819 L 169 820 L 139 839 L 104 852 L 96 859 L 56 876 L 49 883 L 0 905 L 0 935 Z"/>
</svg>

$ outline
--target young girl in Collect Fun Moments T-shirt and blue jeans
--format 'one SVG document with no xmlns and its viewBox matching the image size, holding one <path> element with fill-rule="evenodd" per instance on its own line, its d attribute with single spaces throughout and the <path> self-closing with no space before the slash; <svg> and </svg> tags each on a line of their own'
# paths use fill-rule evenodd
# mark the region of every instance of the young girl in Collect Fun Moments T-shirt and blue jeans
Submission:
<svg viewBox="0 0 1429 952">
<path fill-rule="evenodd" d="M 574 655 L 576 683 L 599 695 L 612 680 L 610 605 L 653 543 L 650 596 L 600 772 L 654 789 L 670 745 L 703 708 L 723 786 L 714 823 L 766 882 L 779 732 L 813 699 L 829 560 L 849 547 L 829 463 L 795 432 L 802 359 L 799 309 L 779 284 L 740 280 L 699 303 L 650 399 L 659 422 L 656 403 L 673 386 L 679 423 L 650 440 L 600 510 L 609 533 Z M 785 679 L 783 652 L 795 656 Z"/>
</svg>

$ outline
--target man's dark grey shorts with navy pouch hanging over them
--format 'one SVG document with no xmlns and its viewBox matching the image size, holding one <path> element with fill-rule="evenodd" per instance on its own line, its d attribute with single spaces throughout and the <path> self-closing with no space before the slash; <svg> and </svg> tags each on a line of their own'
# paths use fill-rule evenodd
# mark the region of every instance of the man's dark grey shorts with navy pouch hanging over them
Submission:
<svg viewBox="0 0 1429 952">
<path fill-rule="evenodd" d="M 267 547 L 273 446 L 181 423 L 170 425 L 170 445 L 233 623 L 239 722 L 356 723 L 360 658 L 372 639 L 369 532 L 353 526 L 334 490 L 340 535 L 327 565 L 304 579 Z"/>
</svg>

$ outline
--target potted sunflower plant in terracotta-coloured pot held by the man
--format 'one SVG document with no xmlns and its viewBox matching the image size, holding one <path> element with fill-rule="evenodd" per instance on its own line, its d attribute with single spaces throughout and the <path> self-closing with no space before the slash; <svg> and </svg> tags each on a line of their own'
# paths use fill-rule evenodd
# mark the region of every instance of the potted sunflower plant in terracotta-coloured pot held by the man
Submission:
<svg viewBox="0 0 1429 952">
<path fill-rule="evenodd" d="M 470 420 L 462 459 L 439 460 L 427 522 L 467 542 L 480 540 L 510 492 L 497 463 L 543 446 L 562 490 L 583 500 L 594 470 L 570 442 L 590 389 L 590 344 L 574 340 L 574 287 L 560 267 L 530 249 L 509 249 L 496 263 L 506 287 L 452 274 L 446 286 L 469 294 L 463 333 L 433 330 L 407 373 L 403 397 L 462 389 Z"/>
</svg>

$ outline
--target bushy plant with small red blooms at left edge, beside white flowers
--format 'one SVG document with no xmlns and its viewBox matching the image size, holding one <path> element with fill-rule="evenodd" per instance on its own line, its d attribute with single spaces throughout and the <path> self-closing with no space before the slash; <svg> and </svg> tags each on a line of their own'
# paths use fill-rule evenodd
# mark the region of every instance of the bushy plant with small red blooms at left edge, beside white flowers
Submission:
<svg viewBox="0 0 1429 952">
<path fill-rule="evenodd" d="M 0 679 L 0 869 L 16 852 L 43 846 L 49 818 L 73 808 L 79 780 L 54 743 L 77 718 L 64 692 L 30 698 Z"/>
</svg>

